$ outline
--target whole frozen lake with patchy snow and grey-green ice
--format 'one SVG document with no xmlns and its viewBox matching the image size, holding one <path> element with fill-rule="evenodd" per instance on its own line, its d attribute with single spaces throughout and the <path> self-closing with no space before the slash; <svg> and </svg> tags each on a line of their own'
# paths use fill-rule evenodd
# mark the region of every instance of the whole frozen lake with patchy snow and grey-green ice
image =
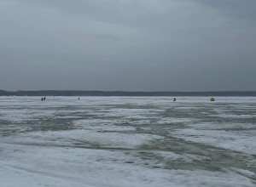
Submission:
<svg viewBox="0 0 256 187">
<path fill-rule="evenodd" d="M 0 97 L 0 186 L 256 186 L 256 98 Z"/>
</svg>

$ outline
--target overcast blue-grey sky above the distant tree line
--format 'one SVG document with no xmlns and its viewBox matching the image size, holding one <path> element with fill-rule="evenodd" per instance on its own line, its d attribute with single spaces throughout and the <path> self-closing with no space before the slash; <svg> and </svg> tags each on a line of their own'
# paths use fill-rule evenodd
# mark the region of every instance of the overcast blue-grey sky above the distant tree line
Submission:
<svg viewBox="0 0 256 187">
<path fill-rule="evenodd" d="M 0 0 L 0 89 L 256 90 L 256 1 Z"/>
</svg>

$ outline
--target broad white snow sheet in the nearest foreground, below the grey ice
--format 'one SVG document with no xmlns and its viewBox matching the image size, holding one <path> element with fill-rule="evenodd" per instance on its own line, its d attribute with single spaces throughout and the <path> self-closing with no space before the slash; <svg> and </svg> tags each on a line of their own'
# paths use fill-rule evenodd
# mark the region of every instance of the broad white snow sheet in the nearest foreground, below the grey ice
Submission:
<svg viewBox="0 0 256 187">
<path fill-rule="evenodd" d="M 2 144 L 0 176 L 4 186 L 253 186 L 234 168 L 223 172 L 143 167 L 120 151 Z M 239 174 L 242 173 L 242 174 Z M 3 178 L 3 179 L 2 179 Z M 15 180 L 14 180 L 15 178 Z"/>
</svg>

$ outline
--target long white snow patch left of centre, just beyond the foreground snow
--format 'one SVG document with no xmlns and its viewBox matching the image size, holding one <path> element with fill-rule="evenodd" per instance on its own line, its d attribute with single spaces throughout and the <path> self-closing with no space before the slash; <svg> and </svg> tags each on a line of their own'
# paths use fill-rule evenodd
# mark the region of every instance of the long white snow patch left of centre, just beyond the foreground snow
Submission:
<svg viewBox="0 0 256 187">
<path fill-rule="evenodd" d="M 120 128 L 112 127 L 111 130 L 117 129 L 117 132 L 109 133 L 102 130 L 69 130 L 56 131 L 47 133 L 26 133 L 19 142 L 24 141 L 26 144 L 73 144 L 73 146 L 99 146 L 99 147 L 115 147 L 132 149 L 154 139 L 162 139 L 161 136 L 151 135 L 147 133 L 121 133 Z M 128 128 L 125 130 L 133 130 Z M 15 141 L 15 139 L 13 139 Z"/>
</svg>

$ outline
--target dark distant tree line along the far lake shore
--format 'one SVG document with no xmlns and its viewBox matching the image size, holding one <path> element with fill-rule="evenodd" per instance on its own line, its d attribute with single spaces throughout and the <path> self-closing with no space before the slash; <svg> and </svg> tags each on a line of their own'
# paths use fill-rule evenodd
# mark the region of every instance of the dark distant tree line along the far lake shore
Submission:
<svg viewBox="0 0 256 187">
<path fill-rule="evenodd" d="M 0 96 L 256 96 L 256 91 L 224 92 L 125 92 L 125 91 L 74 91 L 74 90 L 38 90 L 5 91 Z"/>
</svg>

